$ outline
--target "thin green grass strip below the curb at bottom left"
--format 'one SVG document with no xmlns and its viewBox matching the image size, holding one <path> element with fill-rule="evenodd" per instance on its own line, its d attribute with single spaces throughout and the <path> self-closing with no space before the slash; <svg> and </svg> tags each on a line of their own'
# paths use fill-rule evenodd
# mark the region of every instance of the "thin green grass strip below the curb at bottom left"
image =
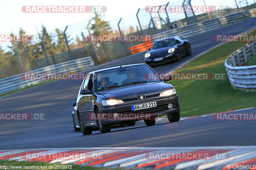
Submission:
<svg viewBox="0 0 256 170">
<path fill-rule="evenodd" d="M 65 165 L 68 165 L 68 164 L 50 164 L 50 163 L 44 163 L 44 162 L 23 162 L 23 161 L 14 161 L 14 160 L 11 160 L 11 161 L 3 161 L 3 160 L 0 160 L 0 165 L 1 165 L 1 169 L 4 169 L 3 166 L 7 166 L 6 169 L 9 169 L 10 166 L 12 166 L 12 168 L 10 169 L 38 169 L 36 167 L 33 168 L 33 166 L 40 166 L 39 169 L 44 169 L 44 170 L 52 170 L 52 169 L 72 169 L 72 170 L 100 170 L 100 169 L 104 169 L 104 170 L 110 170 L 112 168 L 95 168 L 95 167 L 90 167 L 90 166 L 78 166 L 78 165 L 70 165 L 69 164 L 69 167 L 66 166 L 65 168 Z M 17 166 L 17 167 L 13 167 L 13 166 Z M 27 166 L 27 167 L 26 167 Z M 29 168 L 28 168 L 29 166 Z M 31 167 L 32 166 L 32 167 Z M 47 168 L 41 168 L 41 166 L 46 166 Z M 50 166 L 55 166 L 56 168 L 51 168 Z M 71 167 L 72 166 L 72 167 Z M 58 168 L 58 167 L 63 167 L 63 168 Z M 120 169 L 120 168 L 119 168 Z M 115 169 L 115 170 L 119 170 L 119 169 Z"/>
</svg>

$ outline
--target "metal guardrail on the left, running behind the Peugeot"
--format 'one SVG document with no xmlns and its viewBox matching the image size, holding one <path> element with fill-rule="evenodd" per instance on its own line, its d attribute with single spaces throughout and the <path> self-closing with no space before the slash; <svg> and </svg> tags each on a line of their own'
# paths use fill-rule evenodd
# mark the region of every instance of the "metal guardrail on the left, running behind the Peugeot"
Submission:
<svg viewBox="0 0 256 170">
<path fill-rule="evenodd" d="M 50 65 L 40 69 L 28 71 L 26 73 L 70 73 L 79 70 L 84 70 L 94 66 L 92 57 L 84 57 L 76 60 Z M 0 79 L 0 94 L 13 90 L 22 89 L 30 85 L 36 85 L 44 80 L 23 80 L 21 74 Z"/>
</svg>

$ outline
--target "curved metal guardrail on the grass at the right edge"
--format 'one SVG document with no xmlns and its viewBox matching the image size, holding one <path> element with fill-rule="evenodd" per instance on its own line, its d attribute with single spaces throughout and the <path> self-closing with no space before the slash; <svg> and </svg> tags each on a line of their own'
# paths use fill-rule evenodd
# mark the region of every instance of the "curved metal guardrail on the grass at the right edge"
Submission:
<svg viewBox="0 0 256 170">
<path fill-rule="evenodd" d="M 256 65 L 243 66 L 247 61 L 256 55 L 256 42 L 251 42 L 239 48 L 225 61 L 229 81 L 233 88 L 256 91 Z"/>
</svg>

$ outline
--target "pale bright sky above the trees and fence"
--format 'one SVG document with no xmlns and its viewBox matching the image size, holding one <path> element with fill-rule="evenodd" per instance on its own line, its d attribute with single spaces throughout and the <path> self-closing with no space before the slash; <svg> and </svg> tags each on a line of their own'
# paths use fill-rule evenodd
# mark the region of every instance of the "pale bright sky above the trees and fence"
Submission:
<svg viewBox="0 0 256 170">
<path fill-rule="evenodd" d="M 236 1 L 239 2 L 239 0 Z M 248 1 L 253 2 L 253 0 Z M 106 20 L 118 22 L 118 20 L 122 17 L 134 17 L 134 19 L 130 19 L 129 22 L 133 22 L 135 25 L 138 25 L 138 22 L 135 18 L 138 8 L 143 9 L 146 6 L 162 5 L 166 4 L 167 2 L 168 0 L 1 0 L 0 11 L 2 24 L 0 27 L 0 35 L 10 34 L 11 32 L 13 34 L 18 34 L 20 27 L 22 27 L 22 29 L 25 30 L 27 34 L 33 35 L 37 33 L 36 27 L 39 31 L 41 30 L 42 24 L 46 26 L 48 31 L 51 31 L 55 28 L 65 28 L 67 25 L 87 21 L 94 16 L 93 13 L 24 13 L 21 11 L 22 6 L 106 6 L 107 11 L 104 13 L 104 18 Z M 181 2 L 182 0 L 172 0 L 170 4 L 181 5 Z M 192 5 L 204 5 L 203 0 L 191 0 L 191 3 Z M 205 3 L 206 5 L 234 6 L 235 0 L 205 0 Z M 245 3 L 245 0 L 243 3 Z M 3 42 L 0 42 L 0 46 L 3 47 L 4 45 L 6 45 L 6 43 L 3 44 Z"/>
</svg>

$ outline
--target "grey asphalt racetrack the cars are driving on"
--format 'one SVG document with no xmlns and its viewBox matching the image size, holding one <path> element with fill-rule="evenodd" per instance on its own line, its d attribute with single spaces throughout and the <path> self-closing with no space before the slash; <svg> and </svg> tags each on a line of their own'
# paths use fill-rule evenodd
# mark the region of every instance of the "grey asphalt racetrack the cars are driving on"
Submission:
<svg viewBox="0 0 256 170">
<path fill-rule="evenodd" d="M 179 62 L 153 67 L 167 73 L 196 55 L 218 45 L 213 35 L 239 34 L 256 25 L 256 18 L 223 26 L 188 38 L 192 55 Z M 140 53 L 96 66 L 98 70 L 118 65 L 144 63 Z M 81 80 L 59 80 L 14 93 L 0 99 L 0 113 L 46 113 L 47 120 L 0 121 L 0 150 L 62 147 L 174 147 L 255 145 L 254 121 L 216 121 L 212 116 L 146 127 L 137 122 L 134 127 L 113 128 L 110 133 L 84 136 L 74 131 L 71 111 Z M 181 108 L 182 109 L 182 108 Z M 239 113 L 255 113 L 247 109 Z M 182 115 L 181 115 L 182 117 Z M 124 130 L 125 129 L 125 130 Z"/>
</svg>

